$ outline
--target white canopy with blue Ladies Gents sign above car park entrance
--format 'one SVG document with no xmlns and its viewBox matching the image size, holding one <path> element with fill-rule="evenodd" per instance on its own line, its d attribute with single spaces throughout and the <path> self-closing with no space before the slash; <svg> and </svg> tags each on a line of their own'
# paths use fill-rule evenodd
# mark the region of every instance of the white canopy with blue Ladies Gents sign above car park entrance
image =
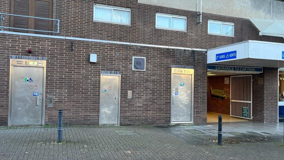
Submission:
<svg viewBox="0 0 284 160">
<path fill-rule="evenodd" d="M 284 67 L 284 43 L 244 41 L 207 51 L 207 64 Z"/>
</svg>

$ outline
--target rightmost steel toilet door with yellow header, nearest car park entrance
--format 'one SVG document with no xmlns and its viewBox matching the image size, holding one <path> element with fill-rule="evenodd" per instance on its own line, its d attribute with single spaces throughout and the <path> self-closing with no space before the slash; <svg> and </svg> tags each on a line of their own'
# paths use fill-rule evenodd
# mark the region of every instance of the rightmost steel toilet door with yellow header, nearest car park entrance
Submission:
<svg viewBox="0 0 284 160">
<path fill-rule="evenodd" d="M 171 123 L 193 121 L 193 69 L 173 68 Z"/>
</svg>

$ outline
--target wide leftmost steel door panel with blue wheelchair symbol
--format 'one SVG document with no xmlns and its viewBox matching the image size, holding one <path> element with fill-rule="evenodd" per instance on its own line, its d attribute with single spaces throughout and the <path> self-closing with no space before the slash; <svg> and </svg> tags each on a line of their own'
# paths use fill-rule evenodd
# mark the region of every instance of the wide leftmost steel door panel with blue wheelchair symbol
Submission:
<svg viewBox="0 0 284 160">
<path fill-rule="evenodd" d="M 13 66 L 11 125 L 42 124 L 43 67 Z"/>
</svg>

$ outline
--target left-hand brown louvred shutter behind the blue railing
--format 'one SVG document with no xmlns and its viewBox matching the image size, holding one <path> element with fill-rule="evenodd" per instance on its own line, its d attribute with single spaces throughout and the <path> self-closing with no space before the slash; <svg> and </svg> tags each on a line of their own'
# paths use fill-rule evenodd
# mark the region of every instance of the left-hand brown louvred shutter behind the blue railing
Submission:
<svg viewBox="0 0 284 160">
<path fill-rule="evenodd" d="M 12 14 L 16 15 L 27 15 L 29 16 L 29 0 L 12 0 L 11 1 L 11 12 Z M 24 17 L 11 17 L 11 27 L 14 28 L 24 28 L 24 29 L 29 29 L 29 18 L 24 18 Z M 23 31 L 23 30 L 11 30 L 14 32 L 24 32 L 28 33 L 29 31 Z"/>
</svg>

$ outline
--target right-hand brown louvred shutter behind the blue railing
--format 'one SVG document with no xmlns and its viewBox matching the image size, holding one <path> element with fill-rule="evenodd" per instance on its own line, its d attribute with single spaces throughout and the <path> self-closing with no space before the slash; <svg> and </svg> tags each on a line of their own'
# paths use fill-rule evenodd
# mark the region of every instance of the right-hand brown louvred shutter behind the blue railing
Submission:
<svg viewBox="0 0 284 160">
<path fill-rule="evenodd" d="M 51 2 L 50 1 L 39 1 L 35 0 L 35 17 L 42 17 L 42 18 L 52 18 L 51 17 Z M 36 30 L 44 30 L 44 31 L 51 31 L 51 21 L 50 20 L 41 20 L 41 19 L 34 19 L 34 29 Z M 49 34 L 46 32 L 35 32 L 35 34 Z"/>
</svg>

